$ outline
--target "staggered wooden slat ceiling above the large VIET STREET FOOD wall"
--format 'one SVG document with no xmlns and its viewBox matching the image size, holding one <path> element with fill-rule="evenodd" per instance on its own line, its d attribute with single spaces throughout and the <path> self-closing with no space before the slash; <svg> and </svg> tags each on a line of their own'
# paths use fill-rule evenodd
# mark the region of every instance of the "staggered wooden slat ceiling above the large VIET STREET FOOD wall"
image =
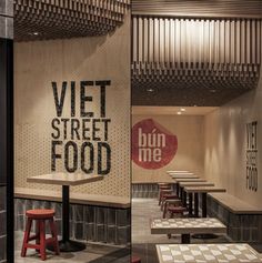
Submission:
<svg viewBox="0 0 262 263">
<path fill-rule="evenodd" d="M 130 0 L 14 0 L 14 40 L 101 36 L 123 22 Z"/>
</svg>

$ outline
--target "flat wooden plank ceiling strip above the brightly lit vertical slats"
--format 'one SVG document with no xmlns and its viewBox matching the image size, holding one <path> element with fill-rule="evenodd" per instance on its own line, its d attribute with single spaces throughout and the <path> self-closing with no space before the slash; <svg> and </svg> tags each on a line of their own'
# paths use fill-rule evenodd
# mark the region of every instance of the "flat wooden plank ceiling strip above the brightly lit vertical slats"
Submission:
<svg viewBox="0 0 262 263">
<path fill-rule="evenodd" d="M 132 0 L 133 14 L 261 18 L 261 0 Z"/>
</svg>

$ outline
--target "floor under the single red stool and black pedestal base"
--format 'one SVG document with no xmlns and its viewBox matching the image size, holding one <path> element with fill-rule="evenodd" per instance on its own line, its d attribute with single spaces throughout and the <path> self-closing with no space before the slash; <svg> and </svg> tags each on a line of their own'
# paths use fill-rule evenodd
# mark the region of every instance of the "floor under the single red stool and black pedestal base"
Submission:
<svg viewBox="0 0 262 263">
<path fill-rule="evenodd" d="M 42 262 L 33 250 L 28 250 L 27 257 L 21 257 L 22 232 L 16 232 L 16 263 Z M 101 244 L 87 245 L 75 253 L 61 253 L 59 256 L 48 252 L 47 263 L 130 263 L 130 250 Z"/>
</svg>

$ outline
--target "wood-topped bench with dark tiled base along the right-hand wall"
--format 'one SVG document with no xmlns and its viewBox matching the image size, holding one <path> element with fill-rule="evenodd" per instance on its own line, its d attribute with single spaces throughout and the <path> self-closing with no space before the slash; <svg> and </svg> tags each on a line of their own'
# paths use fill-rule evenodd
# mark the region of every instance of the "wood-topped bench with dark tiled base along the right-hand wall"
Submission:
<svg viewBox="0 0 262 263">
<path fill-rule="evenodd" d="M 208 215 L 228 226 L 228 235 L 236 242 L 262 242 L 262 210 L 228 193 L 208 194 Z"/>
</svg>

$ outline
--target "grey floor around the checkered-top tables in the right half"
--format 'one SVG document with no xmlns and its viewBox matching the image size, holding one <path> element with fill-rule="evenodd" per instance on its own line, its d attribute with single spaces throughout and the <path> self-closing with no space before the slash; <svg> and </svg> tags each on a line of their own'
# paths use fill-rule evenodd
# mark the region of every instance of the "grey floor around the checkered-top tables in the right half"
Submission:
<svg viewBox="0 0 262 263">
<path fill-rule="evenodd" d="M 159 263 L 155 244 L 179 244 L 180 235 L 152 235 L 150 233 L 150 219 L 162 218 L 162 212 L 154 199 L 132 200 L 132 254 L 139 255 L 142 263 Z M 230 242 L 224 235 L 218 235 L 213 240 L 191 239 L 191 243 L 223 243 Z"/>
</svg>

